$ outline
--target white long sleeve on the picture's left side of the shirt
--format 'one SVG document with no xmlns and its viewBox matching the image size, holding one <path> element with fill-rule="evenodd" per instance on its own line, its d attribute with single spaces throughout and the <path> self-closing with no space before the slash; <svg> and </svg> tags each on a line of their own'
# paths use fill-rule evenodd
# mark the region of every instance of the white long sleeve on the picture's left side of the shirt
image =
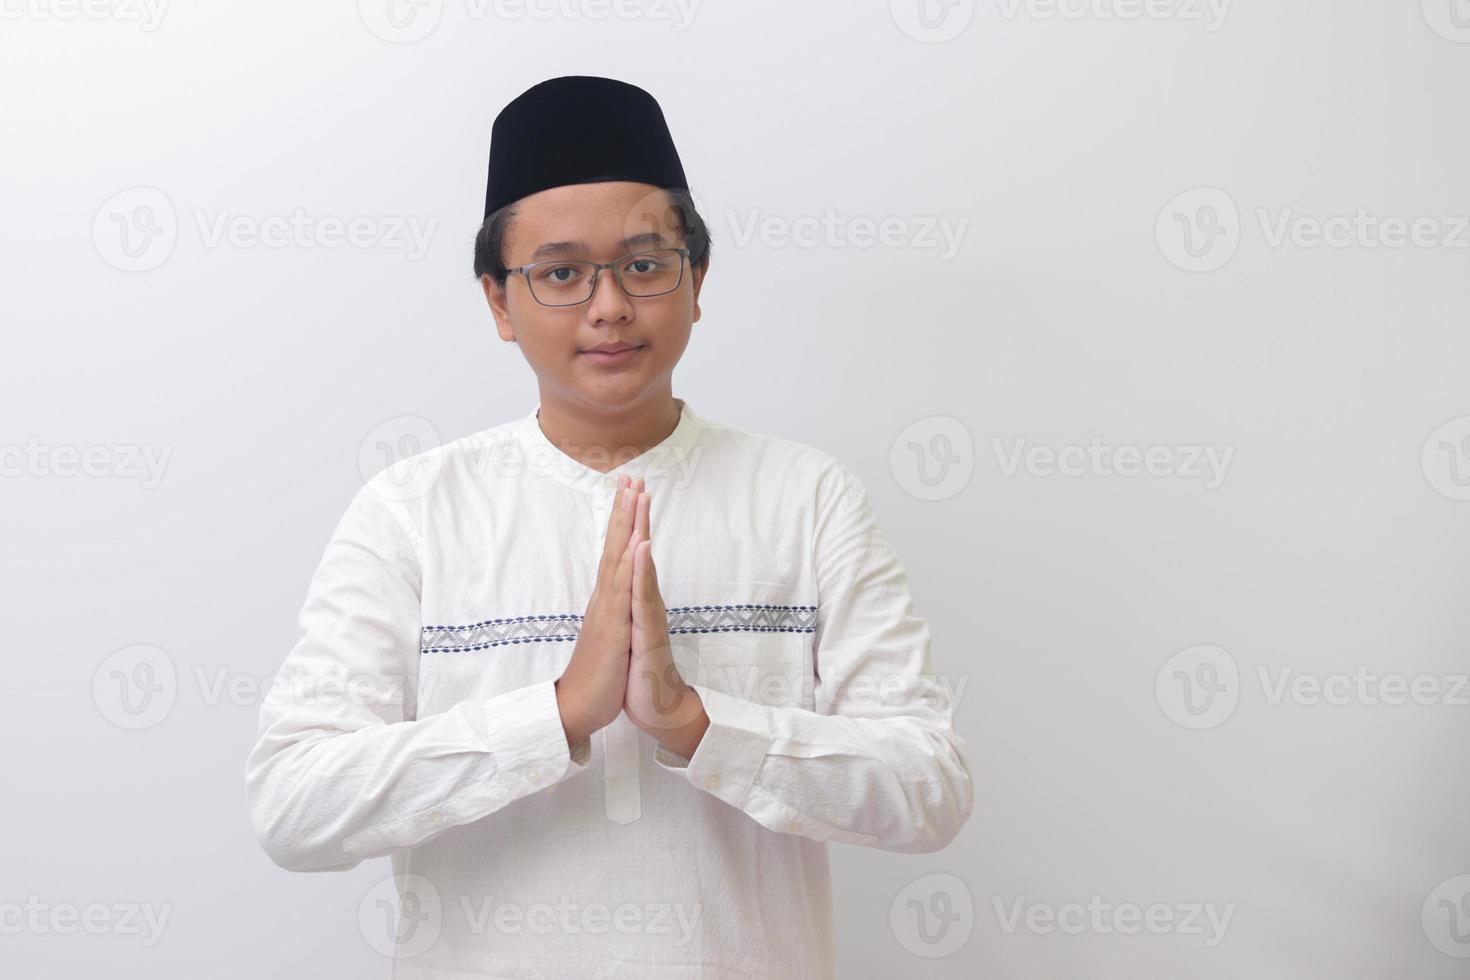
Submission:
<svg viewBox="0 0 1470 980">
<path fill-rule="evenodd" d="M 245 763 L 254 832 L 284 868 L 347 870 L 587 768 L 551 680 L 416 717 L 420 570 L 409 511 L 369 482 L 312 577 Z"/>
</svg>

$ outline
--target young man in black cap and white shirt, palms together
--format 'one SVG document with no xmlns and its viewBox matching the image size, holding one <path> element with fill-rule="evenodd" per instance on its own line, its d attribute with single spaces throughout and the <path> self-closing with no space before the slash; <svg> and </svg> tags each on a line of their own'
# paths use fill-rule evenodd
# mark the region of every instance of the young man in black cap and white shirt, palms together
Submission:
<svg viewBox="0 0 1470 980">
<path fill-rule="evenodd" d="M 497 116 L 475 273 L 538 404 L 353 498 L 247 763 L 282 867 L 391 855 L 400 980 L 831 977 L 828 842 L 970 814 L 858 479 L 673 395 L 709 267 L 648 93 Z"/>
</svg>

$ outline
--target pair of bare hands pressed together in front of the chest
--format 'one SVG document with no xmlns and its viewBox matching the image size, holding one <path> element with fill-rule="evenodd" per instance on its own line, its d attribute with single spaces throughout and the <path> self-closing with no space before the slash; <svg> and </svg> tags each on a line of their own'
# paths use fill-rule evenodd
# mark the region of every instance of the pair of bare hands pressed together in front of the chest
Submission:
<svg viewBox="0 0 1470 980">
<path fill-rule="evenodd" d="M 648 535 L 651 500 L 642 478 L 617 478 L 597 583 L 572 661 L 556 682 L 557 707 L 569 746 L 626 711 L 634 724 L 688 758 L 709 717 L 669 645 L 669 613 Z"/>
</svg>

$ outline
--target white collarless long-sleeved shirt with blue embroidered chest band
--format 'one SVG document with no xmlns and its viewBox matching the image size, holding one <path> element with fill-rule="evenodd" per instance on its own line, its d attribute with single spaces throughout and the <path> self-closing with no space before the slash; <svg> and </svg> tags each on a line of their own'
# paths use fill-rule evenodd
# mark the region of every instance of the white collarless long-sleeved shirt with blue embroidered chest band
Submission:
<svg viewBox="0 0 1470 980">
<path fill-rule="evenodd" d="M 365 902 L 363 932 L 397 980 L 832 977 L 828 842 L 936 851 L 970 815 L 953 698 L 863 485 L 676 404 L 607 473 L 538 404 L 375 476 L 326 547 L 250 814 L 288 870 L 391 855 L 400 907 Z M 620 473 L 645 476 L 710 718 L 691 758 L 626 716 L 573 758 L 557 711 Z"/>
</svg>

